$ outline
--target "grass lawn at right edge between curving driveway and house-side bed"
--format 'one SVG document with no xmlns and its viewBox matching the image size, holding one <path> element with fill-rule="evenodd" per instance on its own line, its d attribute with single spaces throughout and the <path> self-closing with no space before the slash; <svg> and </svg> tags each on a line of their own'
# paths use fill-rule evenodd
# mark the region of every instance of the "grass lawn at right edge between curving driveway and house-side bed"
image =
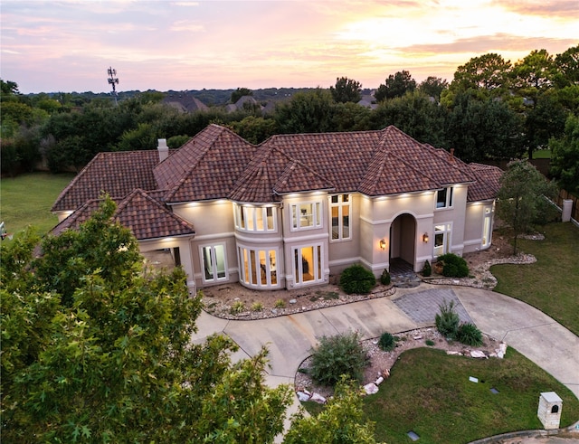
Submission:
<svg viewBox="0 0 579 444">
<path fill-rule="evenodd" d="M 498 279 L 495 291 L 527 302 L 579 335 L 579 229 L 573 223 L 550 223 L 541 231 L 544 241 L 517 240 L 536 263 L 491 267 Z"/>
</svg>

